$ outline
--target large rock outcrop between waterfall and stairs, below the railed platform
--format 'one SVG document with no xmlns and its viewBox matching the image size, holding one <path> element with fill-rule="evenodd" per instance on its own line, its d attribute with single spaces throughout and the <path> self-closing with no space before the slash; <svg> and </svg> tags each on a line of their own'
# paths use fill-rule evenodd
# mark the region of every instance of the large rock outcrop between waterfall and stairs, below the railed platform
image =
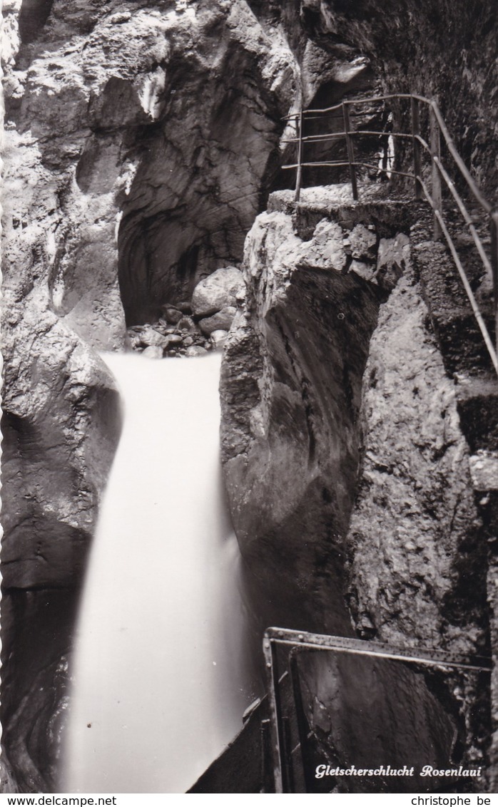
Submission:
<svg viewBox="0 0 498 807">
<path fill-rule="evenodd" d="M 354 205 L 348 193 L 274 194 L 246 242 L 221 382 L 236 534 L 259 607 L 282 626 L 487 654 L 469 450 L 410 257 L 421 208 Z M 333 761 L 329 661 L 312 659 L 303 678 Z M 441 735 L 445 753 L 485 764 L 487 675 L 421 687 L 458 734 L 455 746 Z"/>
</svg>

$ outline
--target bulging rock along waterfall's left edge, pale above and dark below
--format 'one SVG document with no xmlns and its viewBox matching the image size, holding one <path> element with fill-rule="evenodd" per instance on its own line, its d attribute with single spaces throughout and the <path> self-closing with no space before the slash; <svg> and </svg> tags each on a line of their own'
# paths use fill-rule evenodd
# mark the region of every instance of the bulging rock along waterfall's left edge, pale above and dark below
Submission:
<svg viewBox="0 0 498 807">
<path fill-rule="evenodd" d="M 10 299 L 16 315 L 2 345 L 2 742 L 21 792 L 46 792 L 119 403 L 103 362 L 56 316 L 33 321 Z"/>
</svg>

